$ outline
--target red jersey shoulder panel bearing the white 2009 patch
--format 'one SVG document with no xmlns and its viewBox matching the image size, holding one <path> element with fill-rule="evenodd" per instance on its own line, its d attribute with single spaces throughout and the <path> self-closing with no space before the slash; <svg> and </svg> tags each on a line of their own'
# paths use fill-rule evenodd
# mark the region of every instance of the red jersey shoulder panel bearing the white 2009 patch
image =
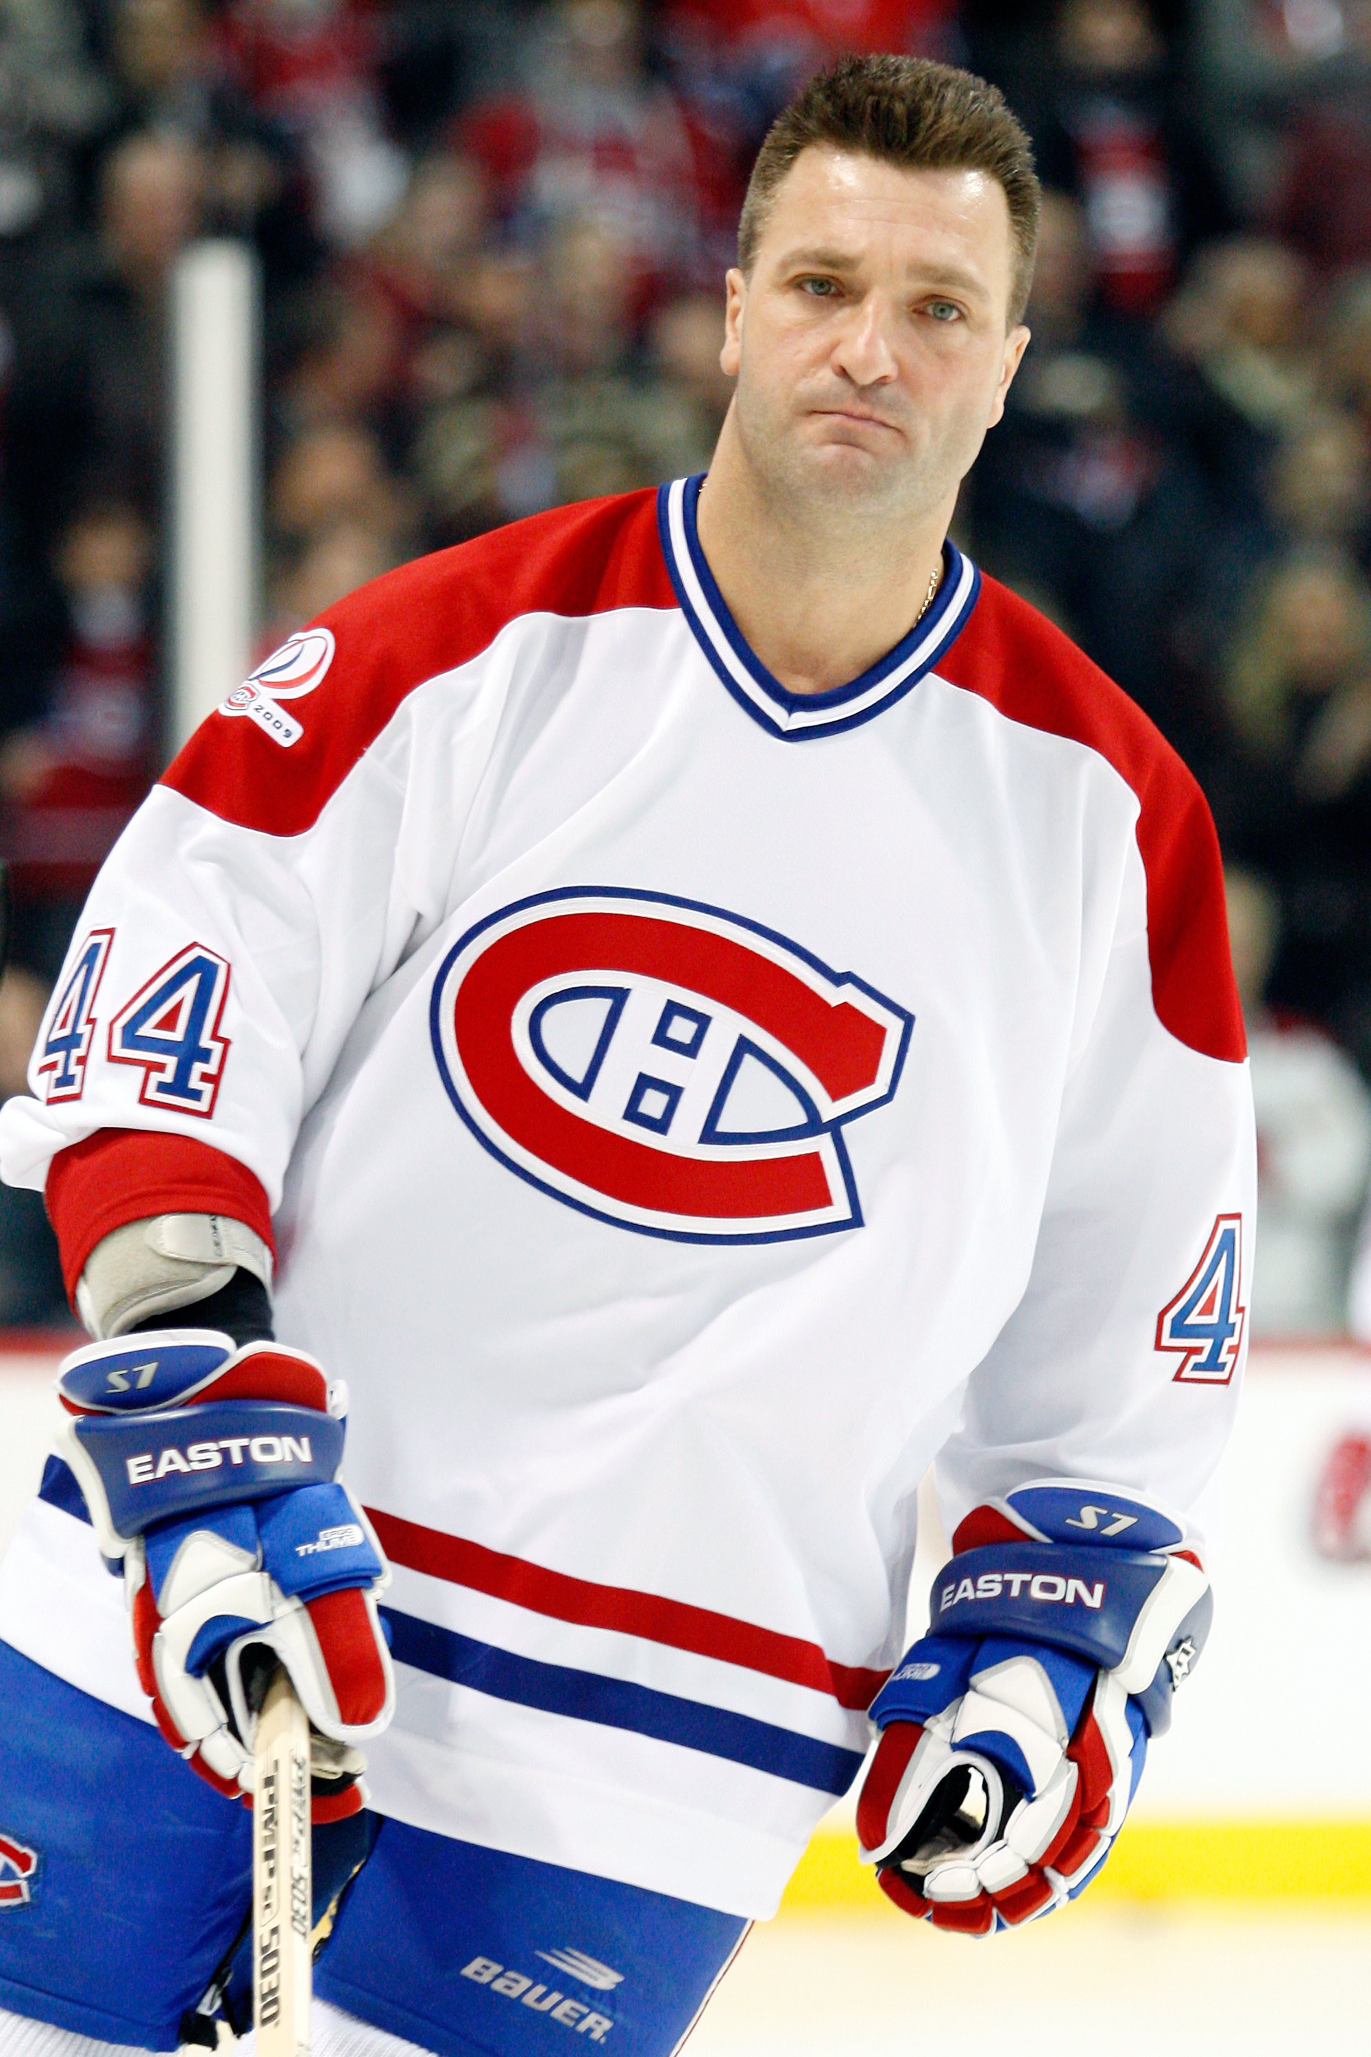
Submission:
<svg viewBox="0 0 1371 2057">
<path fill-rule="evenodd" d="M 676 605 L 656 490 L 530 514 L 327 609 L 228 695 L 162 784 L 245 829 L 300 835 L 407 695 L 510 621 Z"/>
</svg>

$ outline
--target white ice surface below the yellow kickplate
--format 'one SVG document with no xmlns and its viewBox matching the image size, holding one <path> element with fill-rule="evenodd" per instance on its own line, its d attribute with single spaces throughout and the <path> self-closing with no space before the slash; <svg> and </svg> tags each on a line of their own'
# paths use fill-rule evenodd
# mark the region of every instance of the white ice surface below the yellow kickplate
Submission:
<svg viewBox="0 0 1371 2057">
<path fill-rule="evenodd" d="M 687 2057 L 1303 2057 L 1367 2049 L 1371 1917 L 1087 1901 L 974 1942 L 919 1921 L 752 1929 Z"/>
</svg>

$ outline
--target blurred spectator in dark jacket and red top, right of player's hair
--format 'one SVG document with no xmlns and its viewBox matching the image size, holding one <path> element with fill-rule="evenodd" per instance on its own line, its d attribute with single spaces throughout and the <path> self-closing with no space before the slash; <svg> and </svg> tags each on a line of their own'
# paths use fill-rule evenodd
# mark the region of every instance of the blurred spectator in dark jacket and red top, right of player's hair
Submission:
<svg viewBox="0 0 1371 2057">
<path fill-rule="evenodd" d="M 1036 132 L 1042 177 L 1085 208 L 1104 304 L 1157 315 L 1190 251 L 1231 220 L 1209 146 L 1145 0 L 1063 0 L 1057 62 Z"/>
</svg>

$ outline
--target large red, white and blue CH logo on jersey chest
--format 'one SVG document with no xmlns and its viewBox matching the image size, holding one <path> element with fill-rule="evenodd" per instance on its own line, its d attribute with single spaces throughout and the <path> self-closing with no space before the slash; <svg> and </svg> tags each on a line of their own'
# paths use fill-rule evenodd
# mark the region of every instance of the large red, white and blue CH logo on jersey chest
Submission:
<svg viewBox="0 0 1371 2057">
<path fill-rule="evenodd" d="M 719 907 L 565 889 L 462 936 L 432 1028 L 462 1121 L 545 1193 L 777 1242 L 861 1226 L 843 1127 L 894 1094 L 913 1014 Z"/>
</svg>

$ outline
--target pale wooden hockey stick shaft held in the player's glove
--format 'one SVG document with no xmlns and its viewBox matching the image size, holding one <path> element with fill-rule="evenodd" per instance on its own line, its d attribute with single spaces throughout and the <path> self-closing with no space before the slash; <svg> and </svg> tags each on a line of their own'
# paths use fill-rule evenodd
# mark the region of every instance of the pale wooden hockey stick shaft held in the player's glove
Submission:
<svg viewBox="0 0 1371 2057">
<path fill-rule="evenodd" d="M 257 1716 L 253 2022 L 257 2057 L 308 2057 L 310 1724 L 286 1670 Z"/>
</svg>

